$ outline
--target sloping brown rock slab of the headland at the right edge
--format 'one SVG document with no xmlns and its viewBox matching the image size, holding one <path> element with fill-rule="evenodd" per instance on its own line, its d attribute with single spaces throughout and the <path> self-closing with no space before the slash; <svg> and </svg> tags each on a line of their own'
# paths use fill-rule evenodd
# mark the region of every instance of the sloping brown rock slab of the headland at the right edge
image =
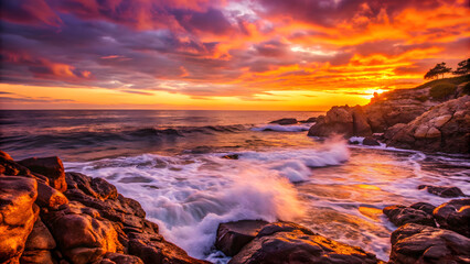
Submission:
<svg viewBox="0 0 470 264">
<path fill-rule="evenodd" d="M 431 108 L 397 130 L 387 145 L 431 152 L 470 152 L 470 96 Z"/>
</svg>

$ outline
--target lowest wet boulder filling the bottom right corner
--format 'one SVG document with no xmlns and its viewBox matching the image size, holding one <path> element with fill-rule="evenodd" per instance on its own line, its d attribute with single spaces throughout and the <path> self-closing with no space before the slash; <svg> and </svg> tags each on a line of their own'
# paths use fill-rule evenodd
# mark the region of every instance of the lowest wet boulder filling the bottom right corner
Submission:
<svg viewBox="0 0 470 264">
<path fill-rule="evenodd" d="M 470 239 L 450 230 L 407 223 L 392 233 L 391 263 L 468 263 Z"/>
</svg>

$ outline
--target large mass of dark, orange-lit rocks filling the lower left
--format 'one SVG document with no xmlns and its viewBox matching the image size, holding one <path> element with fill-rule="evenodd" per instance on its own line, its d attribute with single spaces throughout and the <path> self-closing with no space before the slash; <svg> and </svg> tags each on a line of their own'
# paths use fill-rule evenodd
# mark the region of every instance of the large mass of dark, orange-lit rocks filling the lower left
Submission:
<svg viewBox="0 0 470 264">
<path fill-rule="evenodd" d="M 136 200 L 58 157 L 0 152 L 0 263 L 207 263 L 164 240 Z"/>
</svg>

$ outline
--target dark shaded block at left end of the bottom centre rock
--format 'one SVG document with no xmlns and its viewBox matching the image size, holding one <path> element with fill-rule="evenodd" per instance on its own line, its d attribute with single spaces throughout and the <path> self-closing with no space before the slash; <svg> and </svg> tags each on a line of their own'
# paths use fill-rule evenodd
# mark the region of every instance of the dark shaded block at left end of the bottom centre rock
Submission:
<svg viewBox="0 0 470 264">
<path fill-rule="evenodd" d="M 241 220 L 218 224 L 215 248 L 227 256 L 236 255 L 244 245 L 255 239 L 259 230 L 268 224 L 261 220 Z"/>
</svg>

